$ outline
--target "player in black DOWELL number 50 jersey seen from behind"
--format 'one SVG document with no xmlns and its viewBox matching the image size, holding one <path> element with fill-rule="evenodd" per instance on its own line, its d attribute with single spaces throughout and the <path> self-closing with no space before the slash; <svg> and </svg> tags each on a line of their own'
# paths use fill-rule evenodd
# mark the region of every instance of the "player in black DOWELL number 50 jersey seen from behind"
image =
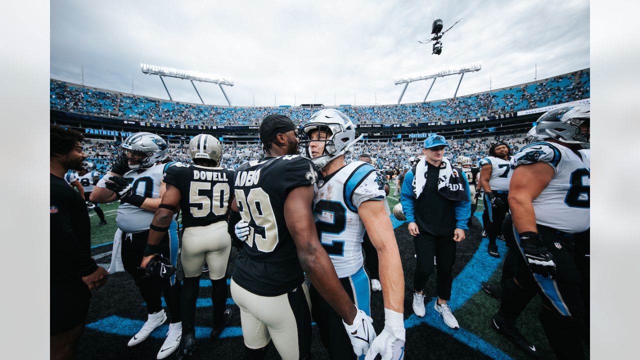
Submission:
<svg viewBox="0 0 640 360">
<path fill-rule="evenodd" d="M 182 209 L 182 340 L 178 359 L 191 356 L 195 349 L 195 311 L 202 266 L 209 265 L 215 340 L 231 320 L 227 303 L 227 262 L 231 238 L 227 232 L 228 204 L 233 199 L 234 172 L 220 166 L 222 147 L 212 135 L 196 135 L 189 142 L 193 165 L 177 163 L 164 174 L 166 192 L 151 222 L 145 258 L 146 268 L 157 253 L 173 215 Z M 183 196 L 184 194 L 184 196 Z"/>
</svg>

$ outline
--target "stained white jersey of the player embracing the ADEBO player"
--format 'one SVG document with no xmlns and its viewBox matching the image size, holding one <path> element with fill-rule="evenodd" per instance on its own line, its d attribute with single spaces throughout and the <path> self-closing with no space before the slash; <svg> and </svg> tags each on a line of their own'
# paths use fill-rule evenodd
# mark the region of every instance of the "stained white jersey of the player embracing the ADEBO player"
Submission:
<svg viewBox="0 0 640 360">
<path fill-rule="evenodd" d="M 374 167 L 353 161 L 315 185 L 314 215 L 318 237 L 338 277 L 362 268 L 365 227 L 358 207 L 367 200 L 384 200 L 385 183 Z"/>
</svg>

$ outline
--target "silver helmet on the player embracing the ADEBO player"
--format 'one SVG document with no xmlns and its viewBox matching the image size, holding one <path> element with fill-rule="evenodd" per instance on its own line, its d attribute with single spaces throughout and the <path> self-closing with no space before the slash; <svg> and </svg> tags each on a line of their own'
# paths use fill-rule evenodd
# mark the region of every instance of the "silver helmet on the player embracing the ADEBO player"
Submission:
<svg viewBox="0 0 640 360">
<path fill-rule="evenodd" d="M 326 131 L 326 140 L 311 140 L 314 131 Z M 356 127 L 347 115 L 335 109 L 323 109 L 311 115 L 307 124 L 302 126 L 304 140 L 300 143 L 305 147 L 307 157 L 318 167 L 326 166 L 329 161 L 340 155 L 349 155 L 350 147 L 362 138 L 356 138 Z M 324 142 L 324 153 L 317 158 L 311 157 L 309 143 L 312 141 Z"/>
</svg>

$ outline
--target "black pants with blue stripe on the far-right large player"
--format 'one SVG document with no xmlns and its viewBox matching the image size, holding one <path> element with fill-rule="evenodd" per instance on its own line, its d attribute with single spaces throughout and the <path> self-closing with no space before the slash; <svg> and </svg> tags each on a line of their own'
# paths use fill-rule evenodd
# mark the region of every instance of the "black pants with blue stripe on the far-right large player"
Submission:
<svg viewBox="0 0 640 360">
<path fill-rule="evenodd" d="M 505 229 L 510 224 L 505 221 Z M 503 286 L 499 313 L 502 317 L 515 321 L 522 313 L 531 297 L 538 293 L 543 309 L 540 322 L 549 344 L 558 359 L 582 359 L 584 349 L 580 341 L 582 319 L 586 316 L 586 306 L 582 297 L 582 279 L 574 254 L 575 234 L 563 233 L 550 227 L 538 225 L 538 233 L 556 263 L 555 277 L 533 274 L 524 261 L 518 234 L 511 227 L 520 253 L 515 261 L 514 279 Z"/>
</svg>

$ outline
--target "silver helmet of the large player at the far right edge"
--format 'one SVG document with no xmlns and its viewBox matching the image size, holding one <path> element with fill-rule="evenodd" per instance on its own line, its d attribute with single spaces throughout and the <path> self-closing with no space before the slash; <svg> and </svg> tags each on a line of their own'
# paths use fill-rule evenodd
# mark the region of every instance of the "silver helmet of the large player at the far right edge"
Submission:
<svg viewBox="0 0 640 360">
<path fill-rule="evenodd" d="M 584 122 L 591 122 L 591 106 L 575 104 L 547 111 L 536 121 L 534 129 L 538 140 L 551 138 L 588 147 L 589 132 L 580 129 Z"/>
</svg>

